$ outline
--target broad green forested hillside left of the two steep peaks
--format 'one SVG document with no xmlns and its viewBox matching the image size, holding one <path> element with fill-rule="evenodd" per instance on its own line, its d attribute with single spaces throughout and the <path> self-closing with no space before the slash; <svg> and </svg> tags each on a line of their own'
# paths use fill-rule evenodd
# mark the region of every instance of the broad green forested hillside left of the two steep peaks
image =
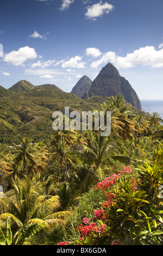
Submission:
<svg viewBox="0 0 163 256">
<path fill-rule="evenodd" d="M 36 86 L 23 93 L 5 90 L 9 94 L 0 97 L 0 143 L 9 144 L 19 143 L 26 136 L 35 141 L 49 139 L 54 132 L 54 111 L 64 113 L 65 107 L 69 107 L 70 112 L 93 111 L 105 101 L 101 96 L 82 100 L 51 85 Z"/>
</svg>

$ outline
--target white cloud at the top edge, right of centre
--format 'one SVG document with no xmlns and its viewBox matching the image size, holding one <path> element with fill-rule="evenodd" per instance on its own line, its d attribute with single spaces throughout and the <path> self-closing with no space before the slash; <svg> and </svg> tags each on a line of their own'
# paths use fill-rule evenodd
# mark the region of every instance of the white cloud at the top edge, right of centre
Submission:
<svg viewBox="0 0 163 256">
<path fill-rule="evenodd" d="M 110 11 L 114 9 L 114 6 L 109 3 L 102 3 L 100 1 L 97 4 L 93 4 L 92 6 L 87 7 L 87 12 L 85 13 L 86 19 L 91 19 L 95 21 L 97 17 L 101 17 L 103 14 L 108 14 Z"/>
</svg>

